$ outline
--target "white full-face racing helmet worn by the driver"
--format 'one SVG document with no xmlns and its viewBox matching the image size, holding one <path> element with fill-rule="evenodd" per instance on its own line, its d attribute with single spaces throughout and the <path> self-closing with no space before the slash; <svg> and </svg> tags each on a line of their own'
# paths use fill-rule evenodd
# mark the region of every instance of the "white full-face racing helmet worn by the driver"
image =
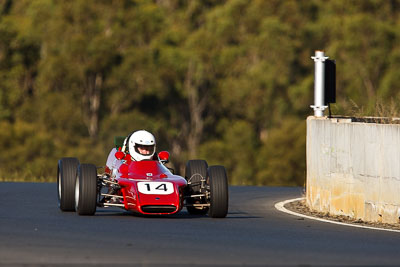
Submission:
<svg viewBox="0 0 400 267">
<path fill-rule="evenodd" d="M 156 151 L 156 139 L 148 131 L 136 131 L 129 137 L 128 147 L 132 159 L 149 160 L 153 158 Z"/>
</svg>

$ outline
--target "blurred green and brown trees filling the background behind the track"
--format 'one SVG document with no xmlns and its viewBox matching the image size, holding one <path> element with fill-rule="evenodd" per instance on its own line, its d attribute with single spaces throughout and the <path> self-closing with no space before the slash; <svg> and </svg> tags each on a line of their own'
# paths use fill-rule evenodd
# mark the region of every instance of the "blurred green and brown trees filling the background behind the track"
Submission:
<svg viewBox="0 0 400 267">
<path fill-rule="evenodd" d="M 99 166 L 113 137 L 225 165 L 231 184 L 303 185 L 314 50 L 333 114 L 399 110 L 400 1 L 0 0 L 0 179 Z M 380 110 L 382 104 L 379 105 Z"/>
</svg>

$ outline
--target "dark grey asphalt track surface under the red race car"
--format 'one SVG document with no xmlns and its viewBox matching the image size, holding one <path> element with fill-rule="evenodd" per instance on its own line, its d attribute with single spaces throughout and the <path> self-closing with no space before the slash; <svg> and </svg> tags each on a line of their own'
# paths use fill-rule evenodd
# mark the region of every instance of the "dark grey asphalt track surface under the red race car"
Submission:
<svg viewBox="0 0 400 267">
<path fill-rule="evenodd" d="M 296 187 L 230 187 L 225 219 L 61 212 L 56 184 L 0 183 L 1 265 L 400 265 L 400 234 L 302 219 Z"/>
</svg>

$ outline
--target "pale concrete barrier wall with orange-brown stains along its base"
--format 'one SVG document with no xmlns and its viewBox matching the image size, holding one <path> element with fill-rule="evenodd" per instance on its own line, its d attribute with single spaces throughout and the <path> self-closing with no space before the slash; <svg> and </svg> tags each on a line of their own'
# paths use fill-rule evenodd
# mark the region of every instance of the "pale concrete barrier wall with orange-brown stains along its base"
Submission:
<svg viewBox="0 0 400 267">
<path fill-rule="evenodd" d="M 400 125 L 307 119 L 307 205 L 366 221 L 398 223 Z"/>
</svg>

